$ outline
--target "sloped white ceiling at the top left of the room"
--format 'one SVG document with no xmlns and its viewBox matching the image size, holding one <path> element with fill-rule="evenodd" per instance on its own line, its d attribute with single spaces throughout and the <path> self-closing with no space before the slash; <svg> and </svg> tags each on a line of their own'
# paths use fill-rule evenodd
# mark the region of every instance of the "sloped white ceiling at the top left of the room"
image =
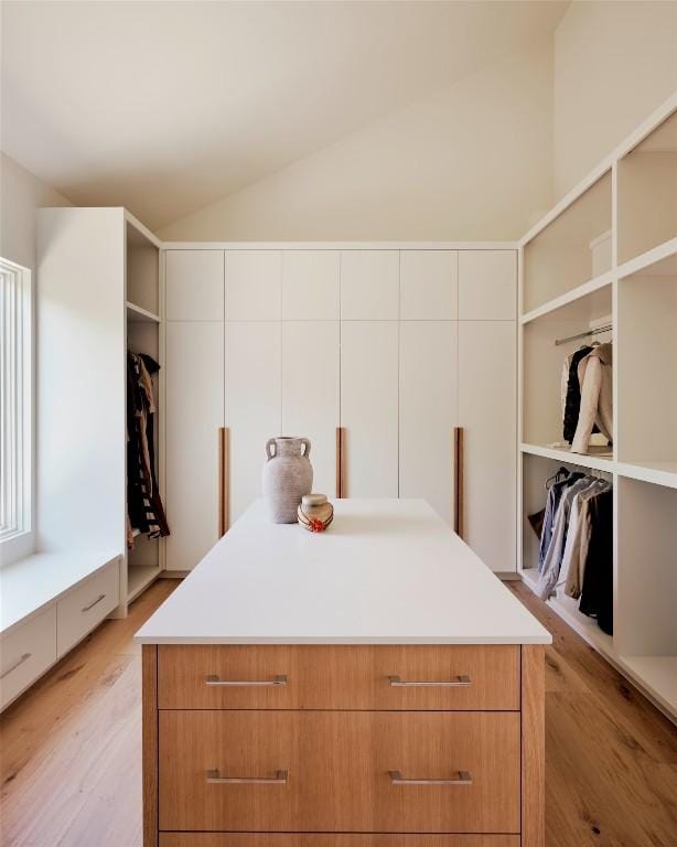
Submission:
<svg viewBox="0 0 677 847">
<path fill-rule="evenodd" d="M 2 149 L 161 227 L 551 32 L 568 2 L 2 2 Z"/>
</svg>

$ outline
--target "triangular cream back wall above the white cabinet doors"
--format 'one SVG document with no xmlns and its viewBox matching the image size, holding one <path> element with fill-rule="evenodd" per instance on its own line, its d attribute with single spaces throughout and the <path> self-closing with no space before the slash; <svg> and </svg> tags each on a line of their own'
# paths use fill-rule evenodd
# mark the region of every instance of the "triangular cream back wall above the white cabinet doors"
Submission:
<svg viewBox="0 0 677 847">
<path fill-rule="evenodd" d="M 551 202 L 552 46 L 352 133 L 160 230 L 166 239 L 513 239 Z"/>
</svg>

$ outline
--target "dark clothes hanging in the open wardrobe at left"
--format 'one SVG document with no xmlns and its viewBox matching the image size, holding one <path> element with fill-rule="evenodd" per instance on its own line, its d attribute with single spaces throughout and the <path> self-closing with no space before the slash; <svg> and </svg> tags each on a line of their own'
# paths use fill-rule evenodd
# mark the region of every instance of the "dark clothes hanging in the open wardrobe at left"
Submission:
<svg viewBox="0 0 677 847">
<path fill-rule="evenodd" d="M 128 546 L 133 546 L 131 527 L 149 538 L 170 534 L 155 475 L 155 398 L 151 373 L 160 365 L 150 356 L 127 354 L 127 510 Z"/>
</svg>

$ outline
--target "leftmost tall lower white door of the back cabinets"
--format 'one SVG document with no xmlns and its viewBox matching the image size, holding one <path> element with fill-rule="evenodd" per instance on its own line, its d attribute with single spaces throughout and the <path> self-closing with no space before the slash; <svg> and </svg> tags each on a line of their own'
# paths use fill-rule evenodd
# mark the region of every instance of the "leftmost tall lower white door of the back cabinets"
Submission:
<svg viewBox="0 0 677 847">
<path fill-rule="evenodd" d="M 166 569 L 190 570 L 218 537 L 224 324 L 169 321 L 165 333 Z"/>
</svg>

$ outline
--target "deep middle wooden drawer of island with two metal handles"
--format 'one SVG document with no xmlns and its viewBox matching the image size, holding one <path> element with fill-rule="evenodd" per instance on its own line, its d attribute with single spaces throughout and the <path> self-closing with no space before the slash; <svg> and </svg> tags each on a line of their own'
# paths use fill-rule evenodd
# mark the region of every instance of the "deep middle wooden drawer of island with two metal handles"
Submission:
<svg viewBox="0 0 677 847">
<path fill-rule="evenodd" d="M 518 833 L 517 712 L 161 710 L 159 829 Z"/>
</svg>

